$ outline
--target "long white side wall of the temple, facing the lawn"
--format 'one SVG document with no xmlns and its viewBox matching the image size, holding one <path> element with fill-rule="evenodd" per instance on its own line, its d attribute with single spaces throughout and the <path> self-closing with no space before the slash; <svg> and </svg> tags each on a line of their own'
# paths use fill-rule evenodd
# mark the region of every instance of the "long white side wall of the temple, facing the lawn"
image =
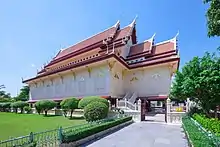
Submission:
<svg viewBox="0 0 220 147">
<path fill-rule="evenodd" d="M 52 82 L 39 81 L 37 87 L 30 84 L 30 97 L 32 100 L 55 99 L 66 97 L 84 97 L 92 95 L 110 95 L 110 73 L 107 65 L 94 67 L 89 76 L 88 71 L 81 70 L 76 72 L 74 78 L 72 73 L 56 77 Z"/>
</svg>

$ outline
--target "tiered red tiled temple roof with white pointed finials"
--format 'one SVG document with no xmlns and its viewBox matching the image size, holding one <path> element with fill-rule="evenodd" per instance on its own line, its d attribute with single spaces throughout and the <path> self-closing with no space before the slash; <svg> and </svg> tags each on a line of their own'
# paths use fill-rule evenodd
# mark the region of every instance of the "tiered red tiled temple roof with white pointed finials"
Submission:
<svg viewBox="0 0 220 147">
<path fill-rule="evenodd" d="M 36 77 L 23 82 L 29 82 L 47 75 L 70 70 L 82 65 L 99 62 L 108 58 L 115 58 L 128 69 L 172 61 L 176 61 L 179 64 L 176 36 L 173 39 L 157 44 L 154 43 L 154 37 L 155 34 L 150 39 L 137 44 L 136 19 L 134 19 L 131 24 L 123 29 L 120 29 L 120 22 L 118 21 L 115 25 L 104 30 L 103 32 L 100 32 L 71 47 L 68 47 L 65 50 L 60 50 L 58 54 L 50 61 L 50 63 L 45 65 L 44 68 L 38 72 Z M 133 45 L 130 46 L 128 56 L 118 56 L 116 52 L 114 52 L 114 49 L 123 49 L 129 39 L 131 39 Z M 55 70 L 47 70 L 56 63 L 73 58 L 91 50 L 97 50 L 99 54 L 97 54 L 95 57 L 89 58 L 88 60 L 83 60 L 82 62 L 72 62 Z"/>
</svg>

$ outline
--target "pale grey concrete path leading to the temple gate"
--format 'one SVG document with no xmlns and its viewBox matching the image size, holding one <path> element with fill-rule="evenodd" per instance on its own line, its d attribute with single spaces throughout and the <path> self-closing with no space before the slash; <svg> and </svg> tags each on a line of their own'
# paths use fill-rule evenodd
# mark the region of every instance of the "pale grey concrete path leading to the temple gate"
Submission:
<svg viewBox="0 0 220 147">
<path fill-rule="evenodd" d="M 92 141 L 87 147 L 187 147 L 180 125 L 140 122 Z"/>
</svg>

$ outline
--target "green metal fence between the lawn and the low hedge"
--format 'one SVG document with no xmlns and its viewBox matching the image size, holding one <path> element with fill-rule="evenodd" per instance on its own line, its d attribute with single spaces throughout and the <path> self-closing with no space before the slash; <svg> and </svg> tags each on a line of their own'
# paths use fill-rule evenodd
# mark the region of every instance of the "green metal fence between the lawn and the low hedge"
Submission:
<svg viewBox="0 0 220 147">
<path fill-rule="evenodd" d="M 44 132 L 37 132 L 37 133 L 31 132 L 29 135 L 26 136 L 0 141 L 0 147 L 26 147 L 27 145 L 30 145 L 32 143 L 36 143 L 36 147 L 58 147 L 62 143 L 62 134 L 65 133 L 66 131 L 72 130 L 73 128 L 85 127 L 90 124 L 108 122 L 118 117 L 123 117 L 123 116 L 115 116 L 95 122 L 85 123 L 81 125 L 74 125 L 65 128 L 60 127 L 57 129 L 47 130 Z"/>
</svg>

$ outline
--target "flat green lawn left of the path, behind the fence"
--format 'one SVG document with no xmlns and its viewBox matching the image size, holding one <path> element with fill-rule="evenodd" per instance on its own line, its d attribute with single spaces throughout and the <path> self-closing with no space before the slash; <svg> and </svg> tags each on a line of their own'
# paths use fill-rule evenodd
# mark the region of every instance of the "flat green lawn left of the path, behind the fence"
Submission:
<svg viewBox="0 0 220 147">
<path fill-rule="evenodd" d="M 48 116 L 38 114 L 15 114 L 0 112 L 0 140 L 9 137 L 19 137 L 30 132 L 40 132 L 55 129 L 59 126 L 73 126 L 85 123 L 83 119 L 69 120 L 63 116 Z"/>
</svg>

